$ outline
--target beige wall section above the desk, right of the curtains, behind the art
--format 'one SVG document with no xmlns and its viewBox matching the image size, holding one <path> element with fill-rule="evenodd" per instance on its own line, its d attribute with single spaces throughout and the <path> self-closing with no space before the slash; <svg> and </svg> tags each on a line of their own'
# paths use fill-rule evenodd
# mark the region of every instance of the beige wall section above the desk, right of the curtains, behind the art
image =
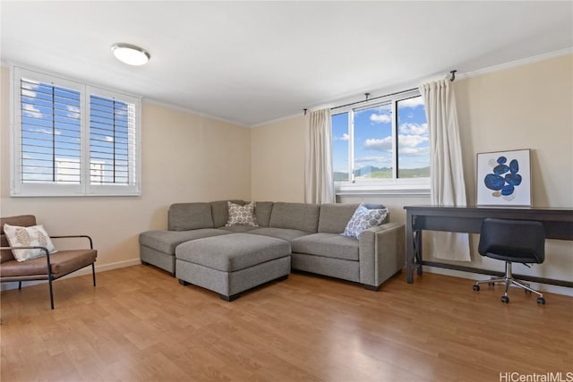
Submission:
<svg viewBox="0 0 573 382">
<path fill-rule="evenodd" d="M 573 55 L 454 82 L 466 189 L 475 154 L 531 149 L 536 207 L 573 207 Z"/>
</svg>

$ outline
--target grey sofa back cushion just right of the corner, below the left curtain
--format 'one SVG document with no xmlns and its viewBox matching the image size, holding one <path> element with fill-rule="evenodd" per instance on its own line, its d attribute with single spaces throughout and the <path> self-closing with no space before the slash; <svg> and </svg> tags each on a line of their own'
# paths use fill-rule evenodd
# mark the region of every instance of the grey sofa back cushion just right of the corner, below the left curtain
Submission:
<svg viewBox="0 0 573 382">
<path fill-rule="evenodd" d="M 269 227 L 316 233 L 320 211 L 318 204 L 277 202 L 270 213 Z"/>
</svg>

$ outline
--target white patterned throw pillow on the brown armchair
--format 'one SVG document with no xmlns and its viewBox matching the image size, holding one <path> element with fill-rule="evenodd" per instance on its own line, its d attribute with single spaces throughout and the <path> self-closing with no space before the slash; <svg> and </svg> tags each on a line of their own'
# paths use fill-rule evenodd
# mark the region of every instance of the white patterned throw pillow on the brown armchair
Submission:
<svg viewBox="0 0 573 382">
<path fill-rule="evenodd" d="M 47 235 L 43 225 L 21 227 L 17 225 L 4 225 L 4 233 L 11 247 L 44 247 L 50 253 L 56 248 Z M 46 255 L 44 250 L 12 250 L 14 258 L 18 261 L 40 258 Z"/>
</svg>

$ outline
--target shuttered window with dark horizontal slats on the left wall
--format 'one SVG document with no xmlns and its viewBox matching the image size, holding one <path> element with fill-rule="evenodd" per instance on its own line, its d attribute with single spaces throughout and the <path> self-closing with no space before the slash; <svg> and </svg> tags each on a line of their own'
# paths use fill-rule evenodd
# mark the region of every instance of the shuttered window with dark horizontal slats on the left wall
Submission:
<svg viewBox="0 0 573 382">
<path fill-rule="evenodd" d="M 13 196 L 139 195 L 140 99 L 13 69 Z"/>
</svg>

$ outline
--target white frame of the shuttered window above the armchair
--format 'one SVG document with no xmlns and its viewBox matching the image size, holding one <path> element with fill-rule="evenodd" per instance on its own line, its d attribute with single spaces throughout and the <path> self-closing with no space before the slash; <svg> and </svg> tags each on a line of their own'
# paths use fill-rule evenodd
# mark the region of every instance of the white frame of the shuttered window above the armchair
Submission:
<svg viewBox="0 0 573 382">
<path fill-rule="evenodd" d="M 21 66 L 11 66 L 10 113 L 10 196 L 11 197 L 76 197 L 76 196 L 141 196 L 141 97 L 124 92 L 66 78 L 62 75 L 41 72 Z M 21 79 L 41 81 L 53 86 L 80 91 L 80 184 L 24 183 L 22 171 L 22 118 Z M 133 165 L 129 165 L 133 181 L 128 184 L 90 183 L 90 96 L 117 98 L 133 104 L 134 142 L 129 150 Z"/>
</svg>

